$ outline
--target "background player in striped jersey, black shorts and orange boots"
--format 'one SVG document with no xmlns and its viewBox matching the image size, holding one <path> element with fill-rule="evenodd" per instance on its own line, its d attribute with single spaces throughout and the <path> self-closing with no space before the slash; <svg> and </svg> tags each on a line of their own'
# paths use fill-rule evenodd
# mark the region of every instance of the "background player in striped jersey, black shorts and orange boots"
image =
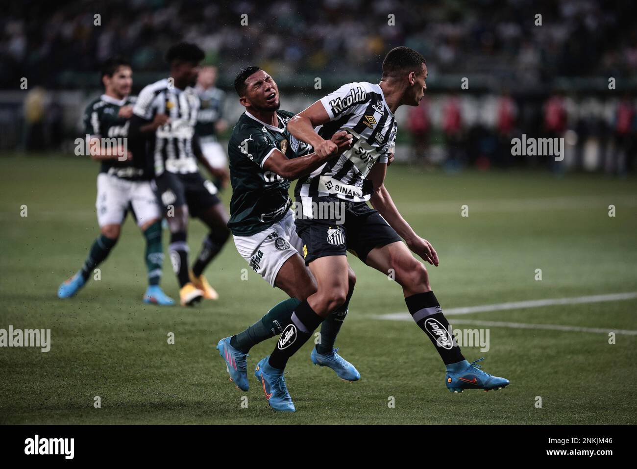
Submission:
<svg viewBox="0 0 637 469">
<path fill-rule="evenodd" d="M 211 175 L 227 180 L 227 171 L 211 167 L 203 157 L 195 133 L 199 98 L 193 86 L 203 58 L 203 50 L 194 44 L 178 43 L 169 48 L 166 54 L 169 78 L 141 90 L 131 119 L 131 133 L 148 140 L 146 154 L 154 167 L 155 192 L 168 219 L 169 252 L 184 306 L 194 305 L 202 298 L 218 298 L 203 270 L 230 235 L 226 226 L 228 216 L 217 197 L 217 187 L 204 179 L 197 168 L 198 160 Z M 187 243 L 189 215 L 210 228 L 192 270 Z"/>
</svg>

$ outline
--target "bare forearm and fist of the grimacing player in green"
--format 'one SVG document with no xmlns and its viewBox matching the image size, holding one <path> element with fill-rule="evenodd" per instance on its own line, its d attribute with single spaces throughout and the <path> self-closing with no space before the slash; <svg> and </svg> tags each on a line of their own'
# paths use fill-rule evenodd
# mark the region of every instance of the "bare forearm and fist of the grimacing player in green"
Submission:
<svg viewBox="0 0 637 469">
<path fill-rule="evenodd" d="M 352 147 L 352 134 L 340 131 L 335 133 L 329 141 L 336 147 L 336 152 L 324 156 L 315 152 L 288 159 L 287 156 L 275 148 L 271 151 L 269 157 L 264 160 L 263 167 L 285 179 L 298 179 L 299 177 L 310 174 L 334 155 Z"/>
</svg>

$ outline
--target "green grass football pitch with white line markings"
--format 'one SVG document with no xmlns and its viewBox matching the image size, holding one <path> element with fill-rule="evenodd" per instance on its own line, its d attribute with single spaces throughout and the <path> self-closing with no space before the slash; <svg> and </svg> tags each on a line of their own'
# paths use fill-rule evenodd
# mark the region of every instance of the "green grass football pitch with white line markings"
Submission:
<svg viewBox="0 0 637 469">
<path fill-rule="evenodd" d="M 511 385 L 449 393 L 431 342 L 401 320 L 399 285 L 348 256 L 358 280 L 336 346 L 362 379 L 313 366 L 307 343 L 287 368 L 297 412 L 280 414 L 253 376 L 275 341 L 250 351 L 247 392 L 229 382 L 214 348 L 285 298 L 253 271 L 242 280 L 247 264 L 232 240 L 206 271 L 215 302 L 141 303 L 144 240 L 130 217 L 101 280 L 75 298 L 55 296 L 97 236 L 96 176 L 82 157 L 0 157 L 0 329 L 51 330 L 49 352 L 0 349 L 0 423 L 637 423 L 634 177 L 390 166 L 396 205 L 440 256 L 429 273 L 449 321 L 489 333 L 488 351 L 465 344 L 464 355 L 485 357 L 484 369 Z M 204 234 L 193 220 L 191 256 Z M 164 250 L 167 242 L 164 231 Z M 168 256 L 162 286 L 178 298 Z M 564 300 L 532 303 L 545 299 Z"/>
</svg>

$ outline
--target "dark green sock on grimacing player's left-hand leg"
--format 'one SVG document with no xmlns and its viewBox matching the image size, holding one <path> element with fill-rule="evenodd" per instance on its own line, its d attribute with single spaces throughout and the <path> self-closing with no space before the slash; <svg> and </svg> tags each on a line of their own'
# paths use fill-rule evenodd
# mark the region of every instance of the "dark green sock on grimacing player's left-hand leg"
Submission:
<svg viewBox="0 0 637 469">
<path fill-rule="evenodd" d="M 282 333 L 283 328 L 290 323 L 294 309 L 300 304 L 301 301 L 296 298 L 281 301 L 245 331 L 233 335 L 230 339 L 230 345 L 247 354 L 257 343 Z"/>
</svg>

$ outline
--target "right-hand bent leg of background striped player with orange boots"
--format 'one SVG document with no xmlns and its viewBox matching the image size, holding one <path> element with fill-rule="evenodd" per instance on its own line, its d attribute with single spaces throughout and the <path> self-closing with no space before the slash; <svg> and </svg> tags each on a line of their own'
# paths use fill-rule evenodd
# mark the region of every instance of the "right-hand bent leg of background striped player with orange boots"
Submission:
<svg viewBox="0 0 637 469">
<path fill-rule="evenodd" d="M 199 218 L 210 229 L 192 266 L 190 281 L 204 292 L 204 298 L 217 299 L 219 296 L 208 284 L 203 270 L 217 256 L 230 236 L 230 230 L 226 226 L 228 214 L 217 197 L 217 187 L 199 173 L 183 177 L 183 182 L 190 215 Z"/>
</svg>

